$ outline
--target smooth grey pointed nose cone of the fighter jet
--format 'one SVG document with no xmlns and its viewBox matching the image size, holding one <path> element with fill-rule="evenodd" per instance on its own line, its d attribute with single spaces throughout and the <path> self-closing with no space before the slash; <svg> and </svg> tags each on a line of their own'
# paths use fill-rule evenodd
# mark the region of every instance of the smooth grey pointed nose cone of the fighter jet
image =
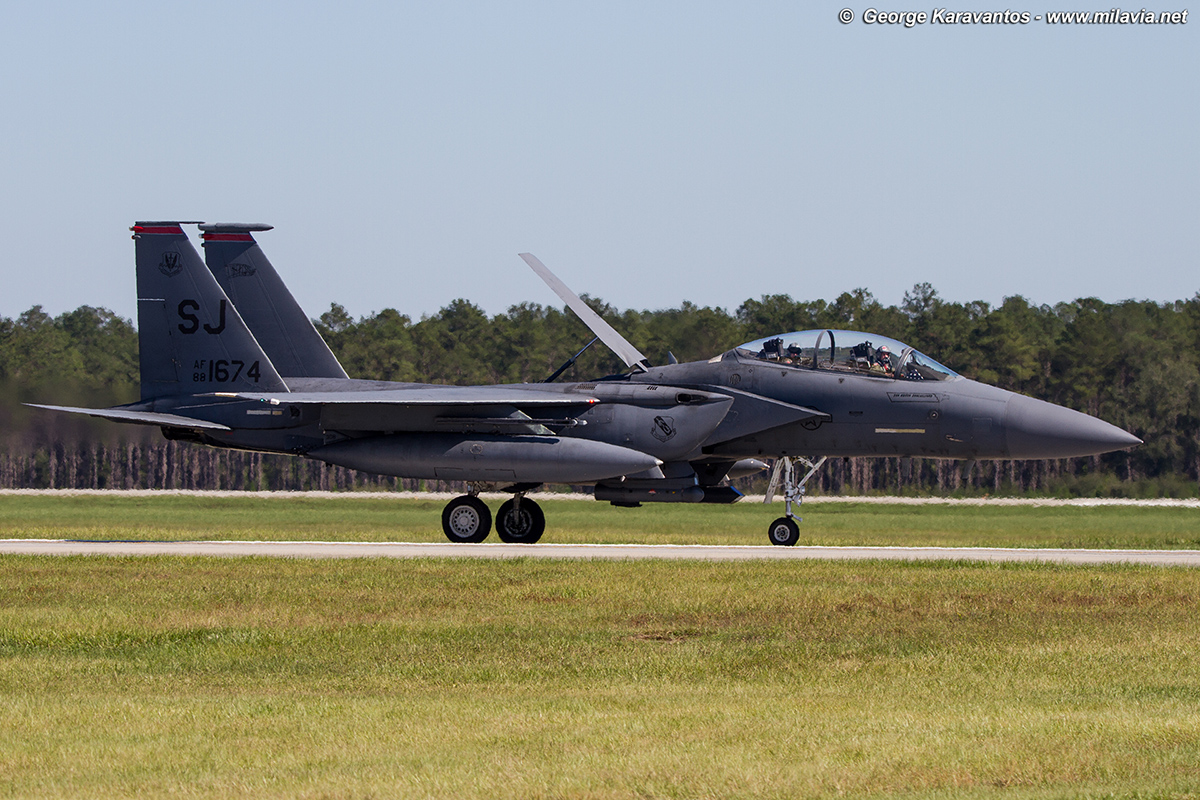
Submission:
<svg viewBox="0 0 1200 800">
<path fill-rule="evenodd" d="M 1009 458 L 1078 458 L 1141 444 L 1104 420 L 1024 395 L 1008 399 L 1007 427 Z"/>
</svg>

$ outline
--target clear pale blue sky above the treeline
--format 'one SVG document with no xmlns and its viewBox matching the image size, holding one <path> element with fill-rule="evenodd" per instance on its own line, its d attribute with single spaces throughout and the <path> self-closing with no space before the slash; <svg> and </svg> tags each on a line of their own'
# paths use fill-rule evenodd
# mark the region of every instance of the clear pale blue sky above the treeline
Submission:
<svg viewBox="0 0 1200 800">
<path fill-rule="evenodd" d="M 559 305 L 522 251 L 618 308 L 1200 290 L 1200 18 L 842 7 L 13 4 L 0 314 L 133 317 L 127 228 L 168 218 L 274 224 L 313 317 Z"/>
</svg>

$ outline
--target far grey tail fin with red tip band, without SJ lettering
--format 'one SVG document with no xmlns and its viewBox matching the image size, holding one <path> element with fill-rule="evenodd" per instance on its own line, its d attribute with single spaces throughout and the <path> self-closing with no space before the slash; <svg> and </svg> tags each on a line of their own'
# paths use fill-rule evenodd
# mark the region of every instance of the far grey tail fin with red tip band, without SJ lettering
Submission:
<svg viewBox="0 0 1200 800">
<path fill-rule="evenodd" d="M 346 378 L 337 357 L 252 235 L 271 225 L 202 224 L 204 261 L 286 378 Z"/>
</svg>

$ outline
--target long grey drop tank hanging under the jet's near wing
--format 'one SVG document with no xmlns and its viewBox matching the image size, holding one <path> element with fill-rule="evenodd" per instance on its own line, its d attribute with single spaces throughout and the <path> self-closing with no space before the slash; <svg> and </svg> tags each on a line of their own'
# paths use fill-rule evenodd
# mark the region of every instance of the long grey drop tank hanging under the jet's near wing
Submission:
<svg viewBox="0 0 1200 800">
<path fill-rule="evenodd" d="M 497 483 L 588 483 L 662 463 L 604 441 L 457 433 L 348 439 L 310 450 L 307 456 L 380 475 Z"/>
</svg>

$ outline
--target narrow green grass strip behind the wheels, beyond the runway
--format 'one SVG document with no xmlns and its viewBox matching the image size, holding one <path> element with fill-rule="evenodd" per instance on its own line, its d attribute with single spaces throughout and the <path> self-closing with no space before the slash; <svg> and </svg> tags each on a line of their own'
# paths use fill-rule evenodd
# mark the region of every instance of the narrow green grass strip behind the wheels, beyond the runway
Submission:
<svg viewBox="0 0 1200 800">
<path fill-rule="evenodd" d="M 445 541 L 443 505 L 388 497 L 5 495 L 0 539 Z M 689 545 L 766 545 L 767 525 L 784 511 L 780 503 L 542 507 L 546 542 Z M 809 504 L 802 516 L 800 541 L 809 545 L 1200 547 L 1200 509 L 1186 507 Z"/>
</svg>

